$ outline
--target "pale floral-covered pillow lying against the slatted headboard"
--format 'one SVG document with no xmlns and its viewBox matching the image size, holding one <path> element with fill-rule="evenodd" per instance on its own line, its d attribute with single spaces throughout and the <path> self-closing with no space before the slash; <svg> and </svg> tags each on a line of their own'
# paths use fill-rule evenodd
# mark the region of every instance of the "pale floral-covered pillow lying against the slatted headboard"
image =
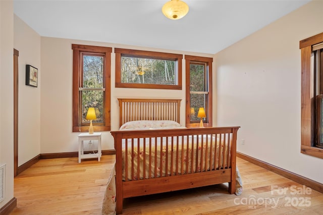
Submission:
<svg viewBox="0 0 323 215">
<path fill-rule="evenodd" d="M 185 127 L 173 120 L 138 120 L 138 121 L 126 122 L 120 127 L 120 130 L 169 129 L 169 128 L 185 128 Z"/>
</svg>

